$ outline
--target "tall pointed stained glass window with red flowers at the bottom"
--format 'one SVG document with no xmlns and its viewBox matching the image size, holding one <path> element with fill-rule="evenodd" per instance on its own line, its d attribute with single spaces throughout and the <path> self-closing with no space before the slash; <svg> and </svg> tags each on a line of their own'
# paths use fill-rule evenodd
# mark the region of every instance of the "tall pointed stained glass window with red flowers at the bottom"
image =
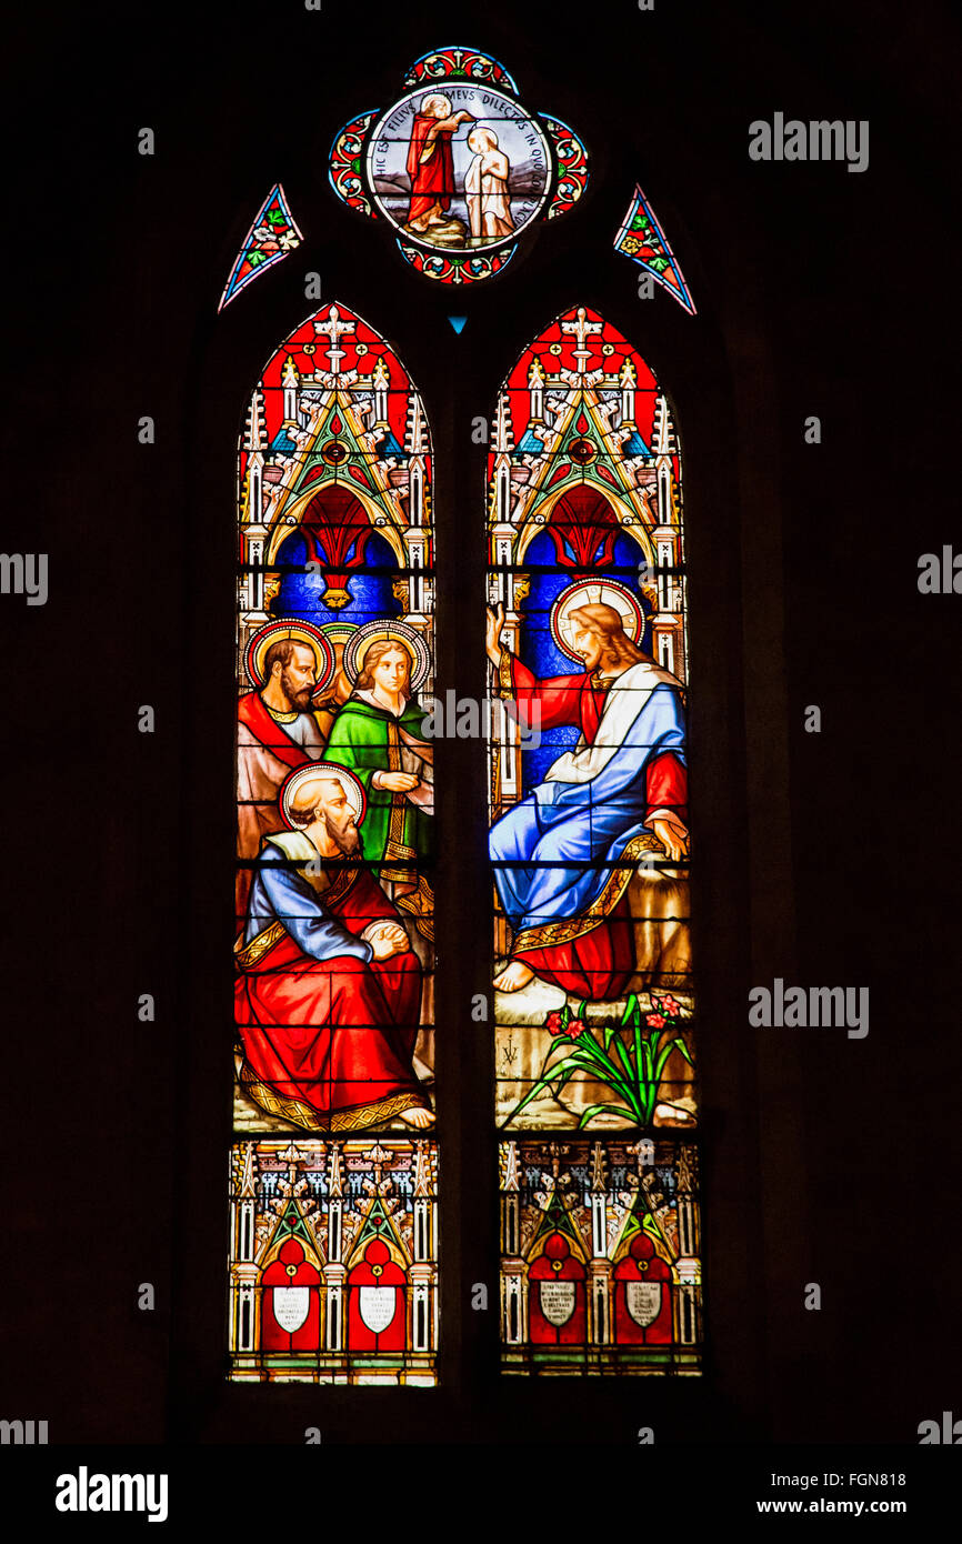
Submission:
<svg viewBox="0 0 962 1544">
<path fill-rule="evenodd" d="M 502 386 L 488 537 L 502 1368 L 696 1374 L 681 463 L 584 306 Z"/>
</svg>

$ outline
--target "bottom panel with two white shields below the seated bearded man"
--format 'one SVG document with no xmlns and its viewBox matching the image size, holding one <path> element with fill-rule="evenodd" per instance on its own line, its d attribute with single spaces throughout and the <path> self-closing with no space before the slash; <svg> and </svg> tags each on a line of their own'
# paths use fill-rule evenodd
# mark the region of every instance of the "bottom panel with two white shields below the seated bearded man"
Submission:
<svg viewBox="0 0 962 1544">
<path fill-rule="evenodd" d="M 432 1143 L 239 1143 L 230 1235 L 238 1382 L 435 1382 Z"/>
</svg>

